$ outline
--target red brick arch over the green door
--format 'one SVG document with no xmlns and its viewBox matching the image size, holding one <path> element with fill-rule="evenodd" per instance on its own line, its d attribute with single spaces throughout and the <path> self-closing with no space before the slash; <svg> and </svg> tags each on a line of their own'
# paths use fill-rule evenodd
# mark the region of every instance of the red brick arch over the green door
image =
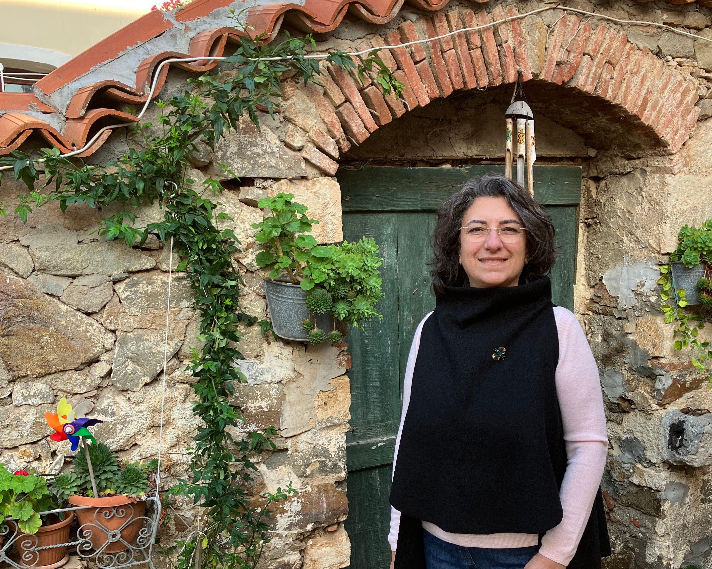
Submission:
<svg viewBox="0 0 712 569">
<path fill-rule="evenodd" d="M 516 14 L 514 6 L 507 11 L 497 6 L 491 14 L 461 6 L 436 11 L 357 41 L 355 48 L 433 38 Z M 408 107 L 423 107 L 453 92 L 487 89 L 508 100 L 518 71 L 535 112 L 582 134 L 590 146 L 615 147 L 629 156 L 676 152 L 699 115 L 691 78 L 665 65 L 647 48 L 638 48 L 624 32 L 602 23 L 592 26 L 573 14 L 551 27 L 528 16 L 408 48 L 382 50 L 379 55 L 397 80 L 407 85 L 405 104 L 393 95 L 382 95 L 372 80 L 357 85 L 333 66 L 323 81 L 325 98 L 314 87 L 306 87 L 305 94 L 315 101 L 341 151 L 365 142 L 379 127 L 406 115 Z M 327 100 L 334 112 L 324 105 Z M 332 147 L 328 151 L 324 144 L 312 142 L 336 159 Z M 330 166 L 326 171 L 335 165 Z"/>
</svg>

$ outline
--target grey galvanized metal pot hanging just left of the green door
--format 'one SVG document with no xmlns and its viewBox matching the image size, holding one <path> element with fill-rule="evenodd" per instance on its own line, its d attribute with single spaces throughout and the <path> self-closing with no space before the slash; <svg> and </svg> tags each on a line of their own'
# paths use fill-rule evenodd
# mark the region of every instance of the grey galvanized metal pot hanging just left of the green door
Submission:
<svg viewBox="0 0 712 569">
<path fill-rule="evenodd" d="M 262 283 L 275 334 L 286 340 L 308 342 L 309 335 L 302 329 L 302 321 L 312 316 L 304 304 L 306 291 L 291 282 L 263 278 Z M 316 317 L 316 325 L 329 332 L 334 327 L 334 317 L 321 314 Z"/>
</svg>

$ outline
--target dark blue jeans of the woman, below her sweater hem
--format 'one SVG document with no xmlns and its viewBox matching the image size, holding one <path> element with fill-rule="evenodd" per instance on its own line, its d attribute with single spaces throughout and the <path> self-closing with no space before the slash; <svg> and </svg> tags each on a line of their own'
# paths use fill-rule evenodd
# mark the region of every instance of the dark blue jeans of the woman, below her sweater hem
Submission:
<svg viewBox="0 0 712 569">
<path fill-rule="evenodd" d="M 482 548 L 457 546 L 423 528 L 427 569 L 524 569 L 539 546 Z"/>
</svg>

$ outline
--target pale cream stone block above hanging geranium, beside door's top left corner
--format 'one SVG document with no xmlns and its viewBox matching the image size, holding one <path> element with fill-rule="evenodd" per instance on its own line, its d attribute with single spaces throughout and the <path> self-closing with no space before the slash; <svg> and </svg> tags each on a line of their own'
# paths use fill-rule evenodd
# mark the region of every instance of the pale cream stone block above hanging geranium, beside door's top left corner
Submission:
<svg viewBox="0 0 712 569">
<path fill-rule="evenodd" d="M 328 177 L 313 180 L 280 180 L 268 188 L 270 196 L 291 193 L 294 201 L 309 208 L 307 216 L 319 220 L 312 228 L 318 243 L 338 243 L 344 240 L 341 225 L 341 188 Z"/>
</svg>

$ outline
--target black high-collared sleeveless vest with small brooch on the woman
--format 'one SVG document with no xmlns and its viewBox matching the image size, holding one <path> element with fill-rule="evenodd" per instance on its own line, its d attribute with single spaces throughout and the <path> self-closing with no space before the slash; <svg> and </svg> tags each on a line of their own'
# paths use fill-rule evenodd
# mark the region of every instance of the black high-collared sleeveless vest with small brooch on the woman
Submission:
<svg viewBox="0 0 712 569">
<path fill-rule="evenodd" d="M 396 569 L 425 567 L 421 520 L 451 533 L 538 533 L 539 543 L 562 520 L 567 458 L 554 306 L 546 276 L 436 294 L 389 496 L 401 512 Z M 600 569 L 605 555 L 599 488 L 568 567 Z"/>
</svg>

